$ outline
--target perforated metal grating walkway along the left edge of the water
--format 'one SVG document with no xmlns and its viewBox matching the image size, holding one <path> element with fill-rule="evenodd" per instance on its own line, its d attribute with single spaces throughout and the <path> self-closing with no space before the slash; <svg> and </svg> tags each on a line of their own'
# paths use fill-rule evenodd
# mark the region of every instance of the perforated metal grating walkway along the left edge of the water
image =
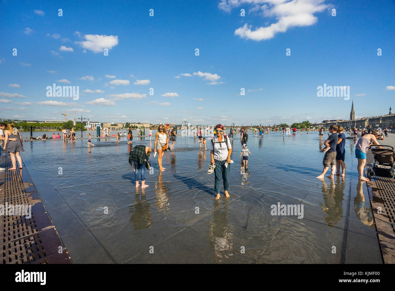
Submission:
<svg viewBox="0 0 395 291">
<path fill-rule="evenodd" d="M 11 168 L 9 153 L 2 152 L 2 168 Z M 48 264 L 71 263 L 55 226 L 49 218 L 26 168 L 0 172 L 0 204 L 31 205 L 31 215 L 15 213 L 0 215 L 0 263 Z M 20 208 L 19 208 L 20 209 Z M 29 217 L 31 216 L 31 217 Z"/>
</svg>

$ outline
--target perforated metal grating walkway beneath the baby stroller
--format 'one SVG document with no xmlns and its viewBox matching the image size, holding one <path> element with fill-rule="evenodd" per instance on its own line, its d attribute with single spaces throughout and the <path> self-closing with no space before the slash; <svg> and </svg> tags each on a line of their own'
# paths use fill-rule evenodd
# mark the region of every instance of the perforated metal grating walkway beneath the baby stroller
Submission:
<svg viewBox="0 0 395 291">
<path fill-rule="evenodd" d="M 367 153 L 367 166 L 371 168 L 374 156 L 369 149 Z M 365 171 L 365 176 L 367 172 Z M 395 263 L 395 179 L 372 176 L 367 182 L 369 197 L 373 209 L 374 221 L 384 263 Z M 381 213 L 380 213 L 381 212 Z"/>
</svg>

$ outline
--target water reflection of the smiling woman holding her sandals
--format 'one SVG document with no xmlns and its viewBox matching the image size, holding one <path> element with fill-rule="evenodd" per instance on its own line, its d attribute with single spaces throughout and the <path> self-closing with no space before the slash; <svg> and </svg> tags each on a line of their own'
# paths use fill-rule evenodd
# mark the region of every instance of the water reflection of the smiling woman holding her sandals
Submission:
<svg viewBox="0 0 395 291">
<path fill-rule="evenodd" d="M 233 229 L 229 224 L 228 203 L 225 200 L 223 210 L 214 212 L 213 220 L 209 222 L 209 246 L 215 253 L 215 263 L 221 263 L 233 255 Z"/>
</svg>

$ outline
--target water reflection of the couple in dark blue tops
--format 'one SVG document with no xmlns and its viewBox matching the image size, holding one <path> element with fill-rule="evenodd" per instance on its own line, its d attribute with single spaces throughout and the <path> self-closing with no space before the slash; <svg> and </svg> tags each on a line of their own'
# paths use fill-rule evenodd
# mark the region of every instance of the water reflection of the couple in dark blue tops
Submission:
<svg viewBox="0 0 395 291">
<path fill-rule="evenodd" d="M 336 184 L 335 181 L 330 180 L 330 187 L 328 187 L 324 179 L 321 181 L 324 204 L 321 203 L 320 206 L 327 214 L 327 216 L 324 215 L 325 222 L 327 225 L 333 227 L 340 221 L 340 217 L 343 214 L 342 204 L 346 183 L 344 182 L 344 178 L 340 178 L 339 176 L 337 176 Z"/>
</svg>

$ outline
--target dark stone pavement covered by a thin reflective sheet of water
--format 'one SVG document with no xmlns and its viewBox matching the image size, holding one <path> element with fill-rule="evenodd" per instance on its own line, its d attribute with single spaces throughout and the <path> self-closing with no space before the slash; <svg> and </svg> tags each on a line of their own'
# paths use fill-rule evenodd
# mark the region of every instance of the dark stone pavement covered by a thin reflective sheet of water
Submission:
<svg viewBox="0 0 395 291">
<path fill-rule="evenodd" d="M 346 178 L 334 180 L 315 178 L 324 157 L 317 132 L 249 133 L 242 171 L 239 139 L 230 198 L 221 187 L 219 201 L 210 147 L 181 134 L 164 155 L 166 171 L 151 155 L 145 189 L 134 187 L 124 141 L 26 143 L 21 155 L 73 263 L 382 263 L 352 139 Z M 154 139 L 138 144 L 153 149 Z M 303 205 L 303 218 L 271 215 L 278 203 Z"/>
</svg>

